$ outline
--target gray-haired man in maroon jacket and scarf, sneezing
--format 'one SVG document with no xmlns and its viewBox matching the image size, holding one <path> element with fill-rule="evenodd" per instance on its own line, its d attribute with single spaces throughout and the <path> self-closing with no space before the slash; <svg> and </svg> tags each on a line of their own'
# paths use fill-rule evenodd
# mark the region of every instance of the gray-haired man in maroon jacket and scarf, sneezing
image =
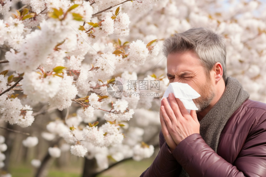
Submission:
<svg viewBox="0 0 266 177">
<path fill-rule="evenodd" d="M 266 176 L 266 104 L 252 101 L 226 77 L 225 40 L 193 28 L 165 40 L 169 82 L 190 85 L 201 96 L 189 114 L 169 94 L 161 101 L 160 151 L 143 177 Z"/>
</svg>

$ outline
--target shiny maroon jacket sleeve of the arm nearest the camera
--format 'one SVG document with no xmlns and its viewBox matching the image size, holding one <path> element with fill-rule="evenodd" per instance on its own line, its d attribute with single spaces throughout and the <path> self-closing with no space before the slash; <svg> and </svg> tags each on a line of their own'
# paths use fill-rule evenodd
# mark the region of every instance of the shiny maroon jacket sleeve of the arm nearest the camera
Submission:
<svg viewBox="0 0 266 177">
<path fill-rule="evenodd" d="M 198 134 L 181 141 L 173 155 L 191 177 L 264 177 L 266 176 L 266 121 L 260 120 L 250 130 L 244 145 L 232 165 Z M 230 145 L 228 145 L 230 146 Z"/>
</svg>

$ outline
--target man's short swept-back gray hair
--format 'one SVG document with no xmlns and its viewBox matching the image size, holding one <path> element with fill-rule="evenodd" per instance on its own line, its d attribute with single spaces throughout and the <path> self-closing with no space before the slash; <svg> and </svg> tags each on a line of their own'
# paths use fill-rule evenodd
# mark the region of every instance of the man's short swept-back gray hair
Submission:
<svg viewBox="0 0 266 177">
<path fill-rule="evenodd" d="M 170 36 L 163 45 L 165 56 L 190 50 L 201 59 L 208 72 L 212 70 L 215 63 L 220 62 L 223 68 L 223 79 L 226 80 L 226 46 L 222 35 L 203 27 L 191 28 Z"/>
</svg>

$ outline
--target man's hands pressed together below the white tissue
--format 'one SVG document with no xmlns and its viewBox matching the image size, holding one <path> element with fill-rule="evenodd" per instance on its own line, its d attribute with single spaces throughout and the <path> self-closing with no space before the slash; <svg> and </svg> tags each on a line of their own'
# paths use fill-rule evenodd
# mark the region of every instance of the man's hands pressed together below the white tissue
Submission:
<svg viewBox="0 0 266 177">
<path fill-rule="evenodd" d="M 161 102 L 160 112 L 164 119 L 163 122 L 165 123 L 162 124 L 161 121 L 162 132 L 164 136 L 169 136 L 170 134 L 175 144 L 178 145 L 183 139 L 185 139 L 189 135 L 199 133 L 199 121 L 197 119 L 196 111 L 191 110 L 189 114 L 183 103 L 178 98 L 175 98 L 174 94 L 172 93 L 169 94 L 169 102 L 172 108 L 170 107 L 166 98 L 164 98 Z M 167 127 L 168 132 L 165 128 L 165 125 Z M 170 141 L 169 137 L 167 137 L 167 139 L 168 141 Z M 174 147 L 172 144 L 171 146 Z"/>
</svg>

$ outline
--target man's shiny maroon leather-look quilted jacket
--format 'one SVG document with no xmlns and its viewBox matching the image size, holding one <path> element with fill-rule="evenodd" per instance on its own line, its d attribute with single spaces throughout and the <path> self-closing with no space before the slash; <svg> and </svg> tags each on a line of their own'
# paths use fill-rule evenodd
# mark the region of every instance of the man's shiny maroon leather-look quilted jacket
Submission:
<svg viewBox="0 0 266 177">
<path fill-rule="evenodd" d="M 266 177 L 266 104 L 247 99 L 220 135 L 217 153 L 192 134 L 169 151 L 160 132 L 160 151 L 141 177 L 178 177 L 182 167 L 191 177 Z"/>
</svg>

